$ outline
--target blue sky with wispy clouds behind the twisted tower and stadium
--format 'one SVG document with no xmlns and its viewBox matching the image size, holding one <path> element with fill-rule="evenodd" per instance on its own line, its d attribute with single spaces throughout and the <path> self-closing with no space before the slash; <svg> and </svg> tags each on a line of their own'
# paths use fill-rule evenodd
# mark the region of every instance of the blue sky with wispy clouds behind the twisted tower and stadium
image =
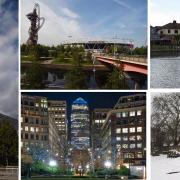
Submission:
<svg viewBox="0 0 180 180">
<path fill-rule="evenodd" d="M 28 39 L 26 14 L 34 4 L 41 6 L 46 22 L 39 43 L 89 39 L 133 39 L 145 45 L 147 39 L 147 0 L 21 0 L 21 43 Z M 70 36 L 72 36 L 70 38 Z"/>
</svg>

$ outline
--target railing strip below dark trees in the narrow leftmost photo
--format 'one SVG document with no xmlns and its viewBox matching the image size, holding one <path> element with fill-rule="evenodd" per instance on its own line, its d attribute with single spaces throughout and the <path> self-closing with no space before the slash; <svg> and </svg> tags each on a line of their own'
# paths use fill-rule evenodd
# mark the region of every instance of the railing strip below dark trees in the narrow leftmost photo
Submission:
<svg viewBox="0 0 180 180">
<path fill-rule="evenodd" d="M 0 168 L 0 180 L 18 180 L 17 167 Z"/>
</svg>

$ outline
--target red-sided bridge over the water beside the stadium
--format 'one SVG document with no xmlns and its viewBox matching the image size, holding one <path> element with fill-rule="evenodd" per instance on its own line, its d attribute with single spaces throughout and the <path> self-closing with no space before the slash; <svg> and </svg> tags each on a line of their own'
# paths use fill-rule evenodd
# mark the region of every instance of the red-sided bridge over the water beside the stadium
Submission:
<svg viewBox="0 0 180 180">
<path fill-rule="evenodd" d="M 95 55 L 95 58 L 101 63 L 111 64 L 119 67 L 120 63 L 123 66 L 125 72 L 136 72 L 147 75 L 147 58 L 140 57 L 121 57 L 119 59 L 110 56 Z"/>
</svg>

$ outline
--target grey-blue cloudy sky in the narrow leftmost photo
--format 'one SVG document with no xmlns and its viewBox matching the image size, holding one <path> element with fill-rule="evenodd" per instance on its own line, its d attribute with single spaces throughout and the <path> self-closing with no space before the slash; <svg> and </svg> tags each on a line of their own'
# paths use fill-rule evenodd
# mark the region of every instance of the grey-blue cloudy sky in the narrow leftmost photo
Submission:
<svg viewBox="0 0 180 180">
<path fill-rule="evenodd" d="M 0 0 L 0 113 L 18 116 L 18 3 Z"/>
</svg>

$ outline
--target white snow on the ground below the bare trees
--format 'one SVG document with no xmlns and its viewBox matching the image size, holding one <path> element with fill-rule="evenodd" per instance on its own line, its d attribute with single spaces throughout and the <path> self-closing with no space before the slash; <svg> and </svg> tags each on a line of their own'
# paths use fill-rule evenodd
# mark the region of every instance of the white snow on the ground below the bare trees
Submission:
<svg viewBox="0 0 180 180">
<path fill-rule="evenodd" d="M 167 174 L 171 172 L 178 172 Z M 166 155 L 151 157 L 151 180 L 180 180 L 180 157 L 167 158 Z"/>
</svg>

